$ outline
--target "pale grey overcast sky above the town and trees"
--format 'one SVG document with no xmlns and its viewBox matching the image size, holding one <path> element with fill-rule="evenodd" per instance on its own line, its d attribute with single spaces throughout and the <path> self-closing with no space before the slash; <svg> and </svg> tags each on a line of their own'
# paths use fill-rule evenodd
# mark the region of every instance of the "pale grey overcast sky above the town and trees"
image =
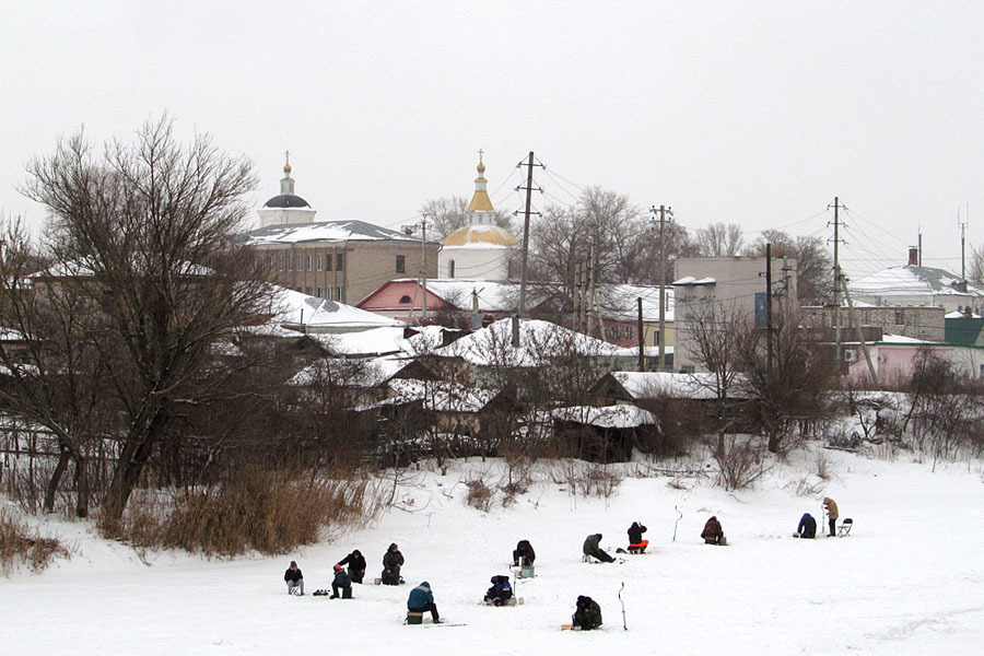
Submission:
<svg viewBox="0 0 984 656">
<path fill-rule="evenodd" d="M 129 137 L 169 112 L 318 220 L 398 227 L 516 164 L 535 204 L 586 186 L 676 220 L 831 236 L 855 277 L 960 272 L 958 208 L 984 244 L 982 2 L 44 2 L 0 9 L 0 210 L 40 225 L 25 163 L 85 127 Z"/>
</svg>

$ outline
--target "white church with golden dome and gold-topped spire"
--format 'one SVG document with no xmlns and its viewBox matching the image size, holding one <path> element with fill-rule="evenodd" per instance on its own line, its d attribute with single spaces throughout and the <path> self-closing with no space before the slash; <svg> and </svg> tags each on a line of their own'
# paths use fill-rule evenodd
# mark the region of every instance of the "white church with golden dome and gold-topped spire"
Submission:
<svg viewBox="0 0 984 656">
<path fill-rule="evenodd" d="M 480 151 L 481 152 L 481 151 Z M 467 280 L 506 280 L 509 256 L 519 244 L 507 230 L 495 224 L 495 208 L 489 198 L 485 165 L 479 154 L 475 195 L 465 210 L 465 225 L 444 238 L 437 254 L 437 277 Z"/>
</svg>

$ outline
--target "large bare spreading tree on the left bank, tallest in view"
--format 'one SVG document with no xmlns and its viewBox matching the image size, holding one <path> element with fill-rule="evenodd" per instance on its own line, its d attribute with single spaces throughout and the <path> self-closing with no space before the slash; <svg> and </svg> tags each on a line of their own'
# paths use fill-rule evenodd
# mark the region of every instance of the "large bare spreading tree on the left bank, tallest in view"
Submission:
<svg viewBox="0 0 984 656">
<path fill-rule="evenodd" d="M 28 166 L 23 191 L 49 212 L 56 262 L 35 283 L 85 304 L 81 329 L 106 372 L 105 432 L 118 443 L 102 504 L 109 520 L 184 409 L 249 394 L 229 387 L 249 363 L 213 366 L 210 349 L 270 305 L 270 285 L 235 238 L 255 186 L 249 162 L 207 136 L 180 144 L 167 117 L 101 154 L 80 132 Z"/>
</svg>

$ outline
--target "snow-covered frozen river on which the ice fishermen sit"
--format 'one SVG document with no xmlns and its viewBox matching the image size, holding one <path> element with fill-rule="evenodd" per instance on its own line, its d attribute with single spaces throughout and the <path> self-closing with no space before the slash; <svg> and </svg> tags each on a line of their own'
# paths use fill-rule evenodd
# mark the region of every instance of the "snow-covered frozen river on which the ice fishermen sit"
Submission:
<svg viewBox="0 0 984 656">
<path fill-rule="evenodd" d="M 798 496 L 812 454 L 775 464 L 755 490 L 729 493 L 707 479 L 626 478 L 608 500 L 573 496 L 546 478 L 508 508 L 469 507 L 461 481 L 496 462 L 455 461 L 446 476 L 421 472 L 373 526 L 276 558 L 204 560 L 149 555 L 96 538 L 82 523 L 49 520 L 43 532 L 73 544 L 70 561 L 40 575 L 0 578 L 4 654 L 963 654 L 984 637 L 984 494 L 980 465 L 937 467 L 828 452 L 835 476 L 822 494 Z M 816 481 L 816 478 L 813 479 Z M 852 517 L 851 537 L 794 540 L 820 499 Z M 678 517 L 683 513 L 671 541 Z M 711 515 L 728 547 L 699 538 Z M 626 546 L 633 520 L 649 530 L 647 555 L 585 564 L 581 546 Z M 507 574 L 516 542 L 537 551 L 524 606 L 480 604 L 494 574 Z M 399 587 L 354 586 L 354 600 L 311 595 L 330 587 L 331 566 L 351 549 L 366 581 L 397 542 L 407 563 Z M 282 575 L 297 560 L 304 597 Z M 429 581 L 442 618 L 466 626 L 406 626 L 407 596 Z M 622 630 L 618 590 L 629 631 Z M 598 632 L 560 631 L 578 595 L 601 606 Z M 425 626 L 430 623 L 426 620 Z"/>
</svg>

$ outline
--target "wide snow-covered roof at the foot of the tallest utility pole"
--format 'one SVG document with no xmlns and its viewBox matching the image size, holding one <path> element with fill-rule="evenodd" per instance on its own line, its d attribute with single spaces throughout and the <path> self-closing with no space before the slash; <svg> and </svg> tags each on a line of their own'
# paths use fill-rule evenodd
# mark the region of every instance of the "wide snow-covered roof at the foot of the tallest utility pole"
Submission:
<svg viewBox="0 0 984 656">
<path fill-rule="evenodd" d="M 513 347 L 512 336 L 512 319 L 500 319 L 435 353 L 479 366 L 537 366 L 559 355 L 613 356 L 619 351 L 614 344 L 539 319 L 519 323 L 519 347 Z"/>
</svg>

